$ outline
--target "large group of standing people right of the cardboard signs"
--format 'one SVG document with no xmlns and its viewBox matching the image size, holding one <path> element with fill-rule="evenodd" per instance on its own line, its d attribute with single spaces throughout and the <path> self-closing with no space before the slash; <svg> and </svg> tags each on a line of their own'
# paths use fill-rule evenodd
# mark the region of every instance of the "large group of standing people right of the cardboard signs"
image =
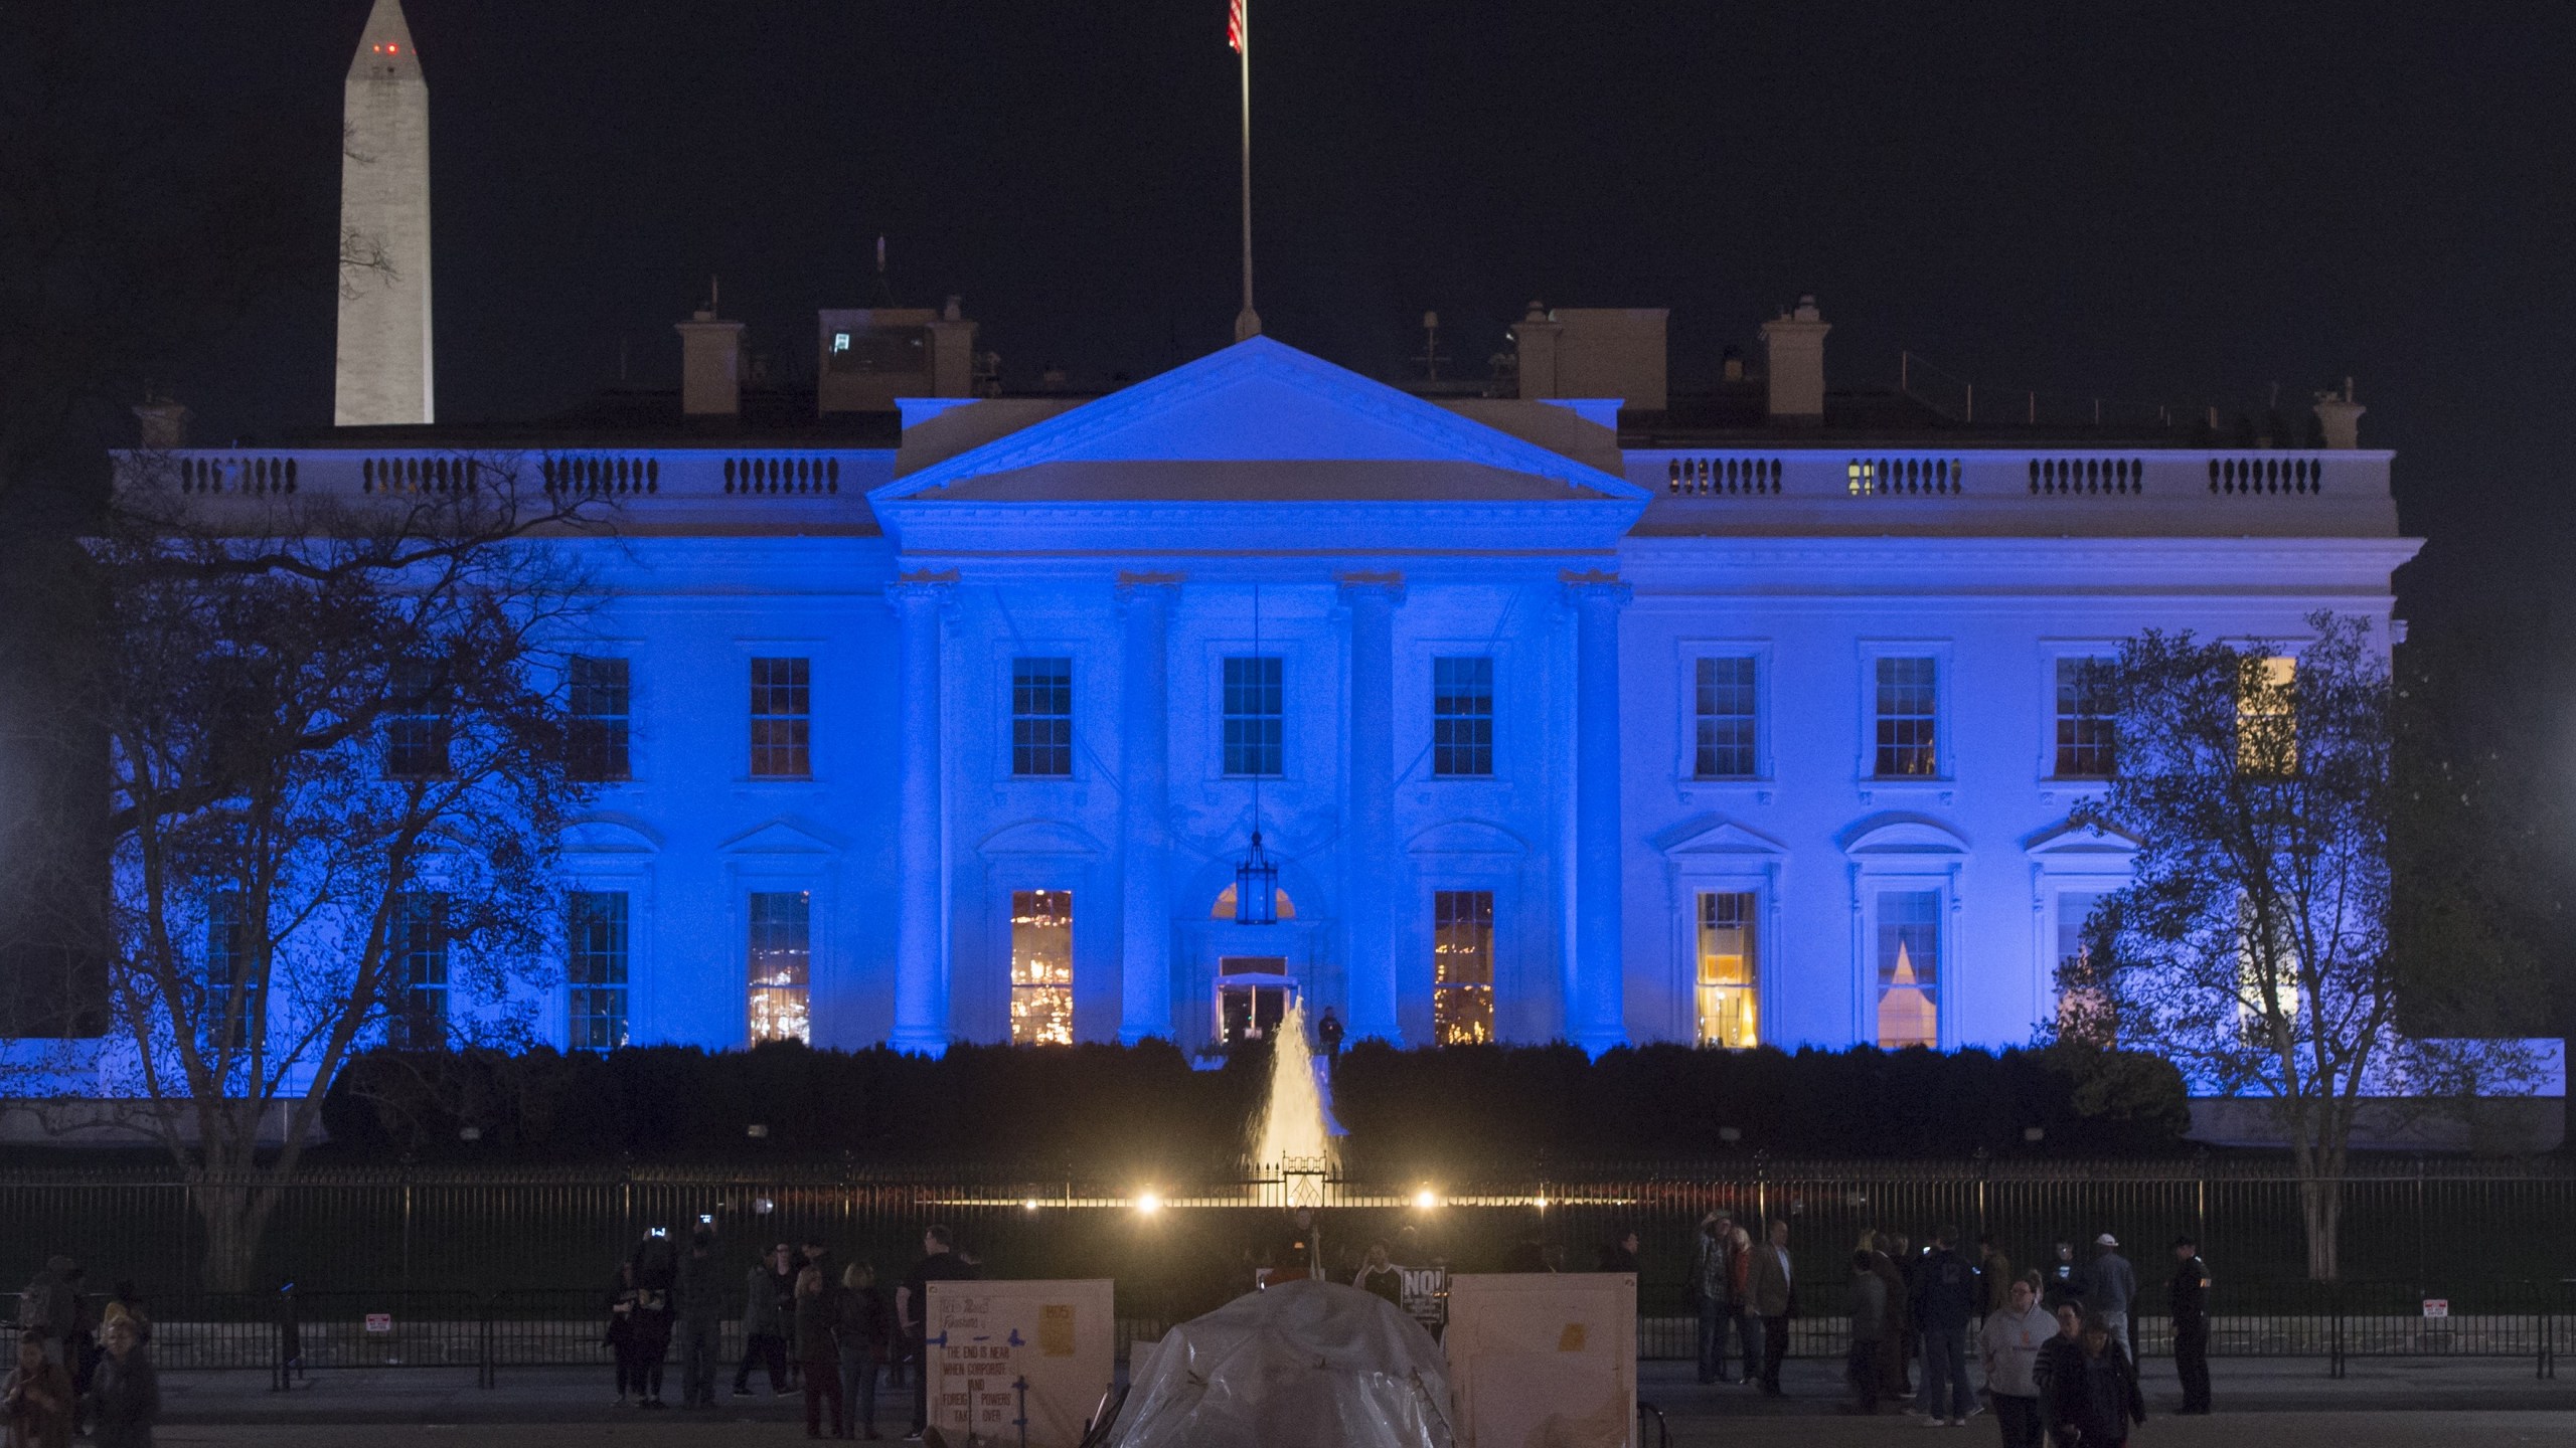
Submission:
<svg viewBox="0 0 2576 1448">
<path fill-rule="evenodd" d="M 1850 1412 L 1901 1407 L 1963 1427 L 1991 1407 L 2007 1448 L 2128 1443 L 2146 1420 L 2130 1337 L 2138 1270 L 2110 1232 L 2092 1250 L 2076 1260 L 2056 1242 L 2045 1268 L 2014 1273 L 1991 1237 L 1971 1260 L 1953 1226 L 1919 1252 L 1904 1234 L 1865 1234 L 1850 1260 Z M 2210 1270 L 2190 1237 L 2174 1242 L 2166 1291 L 2182 1412 L 2210 1412 Z"/>
</svg>

